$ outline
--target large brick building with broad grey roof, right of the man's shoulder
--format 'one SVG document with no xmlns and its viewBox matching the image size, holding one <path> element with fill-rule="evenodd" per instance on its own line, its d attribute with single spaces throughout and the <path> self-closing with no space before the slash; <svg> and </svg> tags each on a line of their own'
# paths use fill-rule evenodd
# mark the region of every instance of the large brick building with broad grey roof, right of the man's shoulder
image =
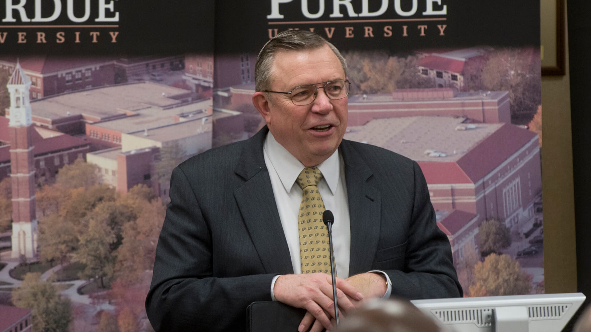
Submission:
<svg viewBox="0 0 591 332">
<path fill-rule="evenodd" d="M 417 161 L 433 207 L 470 214 L 450 214 L 454 221 L 449 227 L 441 222 L 456 244 L 472 242 L 474 227 L 488 218 L 504 220 L 508 227 L 541 221 L 535 210 L 542 191 L 537 134 L 509 123 L 466 121 L 449 116 L 377 119 L 349 127 L 345 138 Z M 472 228 L 463 228 L 474 218 Z M 457 220 L 465 224 L 459 227 Z"/>
</svg>

